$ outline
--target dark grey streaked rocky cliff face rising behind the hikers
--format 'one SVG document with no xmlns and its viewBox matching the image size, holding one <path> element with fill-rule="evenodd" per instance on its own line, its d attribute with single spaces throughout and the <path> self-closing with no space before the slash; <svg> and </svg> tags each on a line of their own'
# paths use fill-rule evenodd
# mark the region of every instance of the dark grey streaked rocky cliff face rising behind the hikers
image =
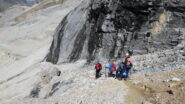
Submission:
<svg viewBox="0 0 185 104">
<path fill-rule="evenodd" d="M 46 60 L 62 63 L 146 54 L 184 41 L 183 0 L 84 0 L 59 24 Z"/>
</svg>

